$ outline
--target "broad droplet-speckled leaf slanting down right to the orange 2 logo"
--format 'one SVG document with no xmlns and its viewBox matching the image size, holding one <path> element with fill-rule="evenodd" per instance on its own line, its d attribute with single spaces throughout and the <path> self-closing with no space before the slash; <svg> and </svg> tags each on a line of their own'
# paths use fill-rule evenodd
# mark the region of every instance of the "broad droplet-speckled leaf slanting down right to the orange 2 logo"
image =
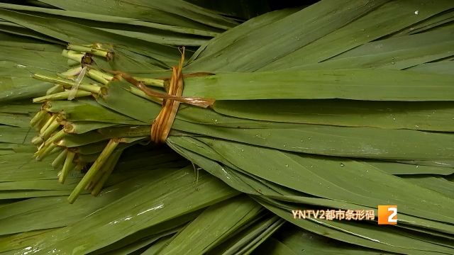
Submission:
<svg viewBox="0 0 454 255">
<path fill-rule="evenodd" d="M 197 139 L 238 168 L 296 191 L 372 208 L 398 204 L 399 211 L 408 215 L 454 222 L 449 212 L 454 204 L 447 196 L 360 162 L 292 154 L 223 140 Z M 301 180 L 304 180 L 304 186 L 301 186 Z M 350 184 L 352 181 L 354 185 Z M 382 188 L 383 183 L 386 189 Z"/>
</svg>

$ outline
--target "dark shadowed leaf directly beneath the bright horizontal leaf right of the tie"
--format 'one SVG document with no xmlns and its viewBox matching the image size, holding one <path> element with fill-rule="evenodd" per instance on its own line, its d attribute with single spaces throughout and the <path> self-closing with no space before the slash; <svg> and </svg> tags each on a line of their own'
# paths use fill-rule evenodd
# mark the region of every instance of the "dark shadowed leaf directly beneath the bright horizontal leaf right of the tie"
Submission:
<svg viewBox="0 0 454 255">
<path fill-rule="evenodd" d="M 244 100 L 216 101 L 214 110 L 237 118 L 281 123 L 454 131 L 451 102 Z"/>
</svg>

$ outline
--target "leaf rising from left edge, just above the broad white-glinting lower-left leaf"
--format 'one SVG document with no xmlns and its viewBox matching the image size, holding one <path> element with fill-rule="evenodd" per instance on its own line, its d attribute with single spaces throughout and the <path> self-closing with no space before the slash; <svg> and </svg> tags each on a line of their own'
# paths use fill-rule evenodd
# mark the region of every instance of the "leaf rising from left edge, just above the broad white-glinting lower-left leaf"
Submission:
<svg viewBox="0 0 454 255">
<path fill-rule="evenodd" d="M 149 181 L 155 179 L 153 175 L 161 176 L 167 171 L 175 171 L 175 169 L 160 169 L 143 174 L 135 172 L 134 178 L 104 189 L 98 197 L 91 194 L 79 196 L 73 205 L 67 203 L 67 196 L 31 198 L 7 205 L 0 212 L 0 222 L 3 226 L 0 233 L 13 234 L 70 225 L 99 208 L 114 203 L 123 196 L 146 186 Z M 60 184 L 55 180 L 53 182 Z M 60 184 L 60 186 L 62 185 Z M 71 191 L 72 189 L 69 193 Z M 39 221 L 36 220 L 38 218 Z"/>
</svg>

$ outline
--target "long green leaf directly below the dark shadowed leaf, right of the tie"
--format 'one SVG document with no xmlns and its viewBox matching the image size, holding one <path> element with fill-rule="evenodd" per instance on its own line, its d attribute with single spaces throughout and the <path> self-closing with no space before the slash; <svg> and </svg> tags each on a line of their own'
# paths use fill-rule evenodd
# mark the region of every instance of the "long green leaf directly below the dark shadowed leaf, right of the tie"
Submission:
<svg viewBox="0 0 454 255">
<path fill-rule="evenodd" d="M 233 140 L 289 152 L 370 159 L 450 160 L 450 133 L 347 128 L 299 124 L 292 128 L 240 129 L 197 125 L 175 120 L 175 130 Z"/>
</svg>

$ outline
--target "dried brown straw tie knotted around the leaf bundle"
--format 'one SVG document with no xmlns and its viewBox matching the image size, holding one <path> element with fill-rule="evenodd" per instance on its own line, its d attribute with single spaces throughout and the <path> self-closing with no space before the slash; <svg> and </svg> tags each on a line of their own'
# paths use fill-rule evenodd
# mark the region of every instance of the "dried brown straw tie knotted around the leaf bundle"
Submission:
<svg viewBox="0 0 454 255">
<path fill-rule="evenodd" d="M 145 92 L 148 96 L 155 96 L 164 99 L 162 102 L 162 109 L 157 115 L 153 124 L 151 125 L 151 140 L 156 143 L 164 143 L 169 135 L 172 124 L 177 115 L 179 103 L 189 103 L 194 106 L 207 108 L 213 106 L 215 99 L 211 98 L 198 98 L 198 97 L 184 97 L 183 94 L 183 77 L 201 77 L 206 75 L 212 75 L 211 73 L 195 73 L 195 74 L 182 74 L 183 62 L 184 62 L 184 47 L 182 50 L 182 58 L 179 60 L 177 67 L 172 67 L 172 77 L 170 78 L 169 92 L 163 94 L 153 89 L 148 89 L 142 82 L 139 82 L 133 77 L 129 76 L 124 72 L 111 71 L 103 69 L 106 72 L 119 74 L 121 77 L 131 82 L 134 86 L 138 87 L 141 91 Z M 101 68 L 102 69 L 102 68 Z M 168 78 L 158 78 L 168 79 Z"/>
</svg>

